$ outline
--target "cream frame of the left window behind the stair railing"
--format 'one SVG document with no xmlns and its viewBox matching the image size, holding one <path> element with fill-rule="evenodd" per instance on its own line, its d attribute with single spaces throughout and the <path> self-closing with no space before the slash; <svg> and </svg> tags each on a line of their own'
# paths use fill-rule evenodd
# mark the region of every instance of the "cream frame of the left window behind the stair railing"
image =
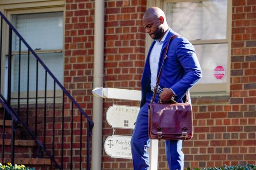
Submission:
<svg viewBox="0 0 256 170">
<path fill-rule="evenodd" d="M 65 0 L 2 0 L 0 2 L 0 11 L 6 16 L 6 18 L 11 21 L 11 15 L 13 14 L 30 14 L 30 13 L 45 13 L 45 12 L 57 12 L 62 11 L 63 12 L 63 40 L 62 40 L 62 49 L 55 49 L 55 50 L 37 50 L 36 53 L 54 53 L 54 52 L 61 52 L 64 51 L 64 35 L 65 35 Z M 3 26 L 3 32 L 5 32 L 6 36 L 3 37 L 3 42 L 8 42 L 9 37 L 9 29 L 5 25 Z M 17 54 L 17 52 L 12 51 L 12 55 Z M 27 54 L 27 51 L 21 51 L 21 54 Z M 64 54 L 64 53 L 63 53 Z M 2 56 L 8 55 L 8 44 L 3 46 L 2 48 Z M 31 56 L 34 57 L 34 56 Z M 2 68 L 4 68 L 6 64 L 6 57 L 2 57 Z M 63 70 L 64 70 L 64 55 L 63 55 Z M 6 77 L 4 73 L 6 73 L 7 69 L 5 71 L 2 70 L 2 80 L 1 80 L 1 89 L 2 92 L 6 91 L 7 84 L 4 83 L 5 80 L 3 79 Z M 48 75 L 49 77 L 49 75 Z M 64 77 L 64 71 L 63 71 L 63 77 Z M 63 79 L 64 80 L 64 79 Z M 63 82 L 62 82 L 63 83 Z M 17 92 L 12 92 L 12 97 L 17 97 Z M 20 92 L 20 98 L 26 98 L 26 92 Z M 35 97 L 35 91 L 29 91 L 29 98 Z M 42 98 L 44 97 L 44 91 L 38 91 L 38 97 Z M 53 97 L 53 90 L 47 90 L 47 101 L 51 101 Z M 56 90 L 55 91 L 55 97 L 56 102 L 62 102 L 62 90 Z M 16 100 L 12 100 L 12 102 L 16 102 Z M 26 103 L 25 99 L 21 99 L 20 103 Z M 35 99 L 29 99 L 29 103 L 35 102 Z M 38 103 L 44 102 L 43 99 L 38 100 Z"/>
</svg>

